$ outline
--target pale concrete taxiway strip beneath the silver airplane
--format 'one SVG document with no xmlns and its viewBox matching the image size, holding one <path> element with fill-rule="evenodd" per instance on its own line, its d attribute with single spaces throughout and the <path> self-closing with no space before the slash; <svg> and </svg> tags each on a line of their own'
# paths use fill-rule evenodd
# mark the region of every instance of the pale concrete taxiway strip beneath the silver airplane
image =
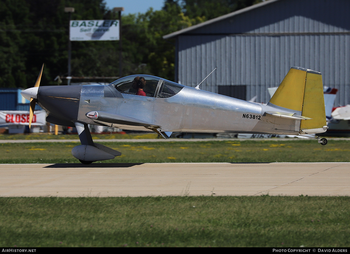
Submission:
<svg viewBox="0 0 350 254">
<path fill-rule="evenodd" d="M 350 162 L 0 164 L 0 196 L 349 196 Z"/>
</svg>

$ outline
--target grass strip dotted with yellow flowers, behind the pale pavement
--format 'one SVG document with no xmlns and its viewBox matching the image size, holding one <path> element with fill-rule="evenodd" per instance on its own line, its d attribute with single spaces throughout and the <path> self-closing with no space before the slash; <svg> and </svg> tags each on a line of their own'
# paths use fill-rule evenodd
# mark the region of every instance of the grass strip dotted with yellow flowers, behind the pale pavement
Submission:
<svg viewBox="0 0 350 254">
<path fill-rule="evenodd" d="M 347 140 L 245 140 L 100 142 L 122 153 L 103 162 L 349 162 Z M 0 144 L 0 163 L 74 163 L 71 149 L 80 143 Z M 103 163 L 96 162 L 96 163 Z"/>
</svg>

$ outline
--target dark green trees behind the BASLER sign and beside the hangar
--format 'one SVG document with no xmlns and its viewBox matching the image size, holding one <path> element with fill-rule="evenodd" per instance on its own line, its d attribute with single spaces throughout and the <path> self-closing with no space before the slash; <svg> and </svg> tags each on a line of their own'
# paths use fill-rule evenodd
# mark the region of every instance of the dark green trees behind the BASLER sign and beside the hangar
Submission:
<svg viewBox="0 0 350 254">
<path fill-rule="evenodd" d="M 261 0 L 166 0 L 161 10 L 122 16 L 123 75 L 174 78 L 175 46 L 162 36 Z M 42 63 L 41 85 L 67 75 L 69 16 L 72 20 L 117 19 L 103 0 L 2 0 L 0 87 L 32 87 Z M 119 42 L 72 42 L 72 75 L 115 76 Z M 110 80 L 112 81 L 112 80 Z"/>
</svg>

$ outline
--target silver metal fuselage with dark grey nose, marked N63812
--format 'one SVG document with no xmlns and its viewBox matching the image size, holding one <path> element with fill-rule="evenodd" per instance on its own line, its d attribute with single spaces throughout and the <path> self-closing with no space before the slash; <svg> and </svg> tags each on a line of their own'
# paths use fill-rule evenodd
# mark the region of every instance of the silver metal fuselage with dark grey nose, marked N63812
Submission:
<svg viewBox="0 0 350 254">
<path fill-rule="evenodd" d="M 126 130 L 150 131 L 144 126 L 95 121 L 86 116 L 90 111 L 151 122 L 170 132 L 287 132 L 297 135 L 300 125 L 300 120 L 290 119 L 286 123 L 286 119 L 282 121 L 264 114 L 267 106 L 186 86 L 167 98 L 120 93 L 111 85 L 40 87 L 37 103 L 49 112 L 48 122 L 57 124 L 62 120 L 62 125 L 70 123 L 71 126 L 74 126 L 72 121 L 77 120 Z"/>
</svg>

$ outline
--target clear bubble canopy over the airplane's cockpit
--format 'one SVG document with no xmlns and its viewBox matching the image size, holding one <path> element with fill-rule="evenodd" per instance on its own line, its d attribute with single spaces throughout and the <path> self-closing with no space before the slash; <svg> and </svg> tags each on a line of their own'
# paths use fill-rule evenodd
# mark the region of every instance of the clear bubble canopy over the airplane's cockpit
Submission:
<svg viewBox="0 0 350 254">
<path fill-rule="evenodd" d="M 179 93 L 184 87 L 183 85 L 175 82 L 154 77 L 151 75 L 131 75 L 121 79 L 118 79 L 111 83 L 120 93 L 124 94 L 136 94 L 137 90 L 132 88 L 134 78 L 144 77 L 146 80 L 146 86 L 144 92 L 148 97 L 168 98 Z"/>
</svg>

